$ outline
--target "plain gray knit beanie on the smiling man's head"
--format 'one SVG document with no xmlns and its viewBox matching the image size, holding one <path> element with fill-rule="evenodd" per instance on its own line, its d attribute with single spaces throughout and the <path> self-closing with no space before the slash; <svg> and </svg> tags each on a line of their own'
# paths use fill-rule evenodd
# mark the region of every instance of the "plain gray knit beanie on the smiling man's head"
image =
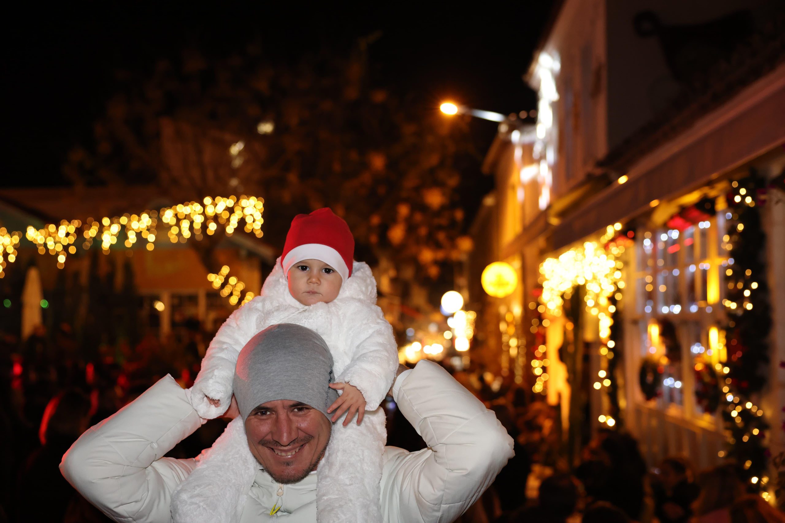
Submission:
<svg viewBox="0 0 785 523">
<path fill-rule="evenodd" d="M 240 350 L 233 383 L 240 416 L 246 419 L 262 403 L 301 401 L 327 415 L 338 399 L 333 383 L 333 356 L 322 336 L 311 329 L 271 325 Z"/>
</svg>

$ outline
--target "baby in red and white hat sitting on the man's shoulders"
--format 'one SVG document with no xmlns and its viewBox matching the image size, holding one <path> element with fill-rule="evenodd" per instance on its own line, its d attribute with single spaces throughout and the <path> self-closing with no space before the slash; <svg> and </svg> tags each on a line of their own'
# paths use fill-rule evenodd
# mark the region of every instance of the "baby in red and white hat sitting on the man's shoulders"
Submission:
<svg viewBox="0 0 785 523">
<path fill-rule="evenodd" d="M 328 412 L 342 427 L 332 430 L 319 462 L 319 523 L 381 523 L 379 507 L 385 413 L 378 409 L 398 366 L 392 327 L 376 306 L 371 269 L 353 262 L 354 238 L 330 209 L 292 221 L 276 267 L 261 296 L 233 312 L 210 343 L 189 390 L 205 419 L 223 414 L 232 401 L 239 351 L 269 325 L 295 323 L 318 332 L 330 347 L 340 397 Z M 351 423 L 357 417 L 356 424 Z M 199 464 L 173 492 L 174 521 L 239 521 L 246 493 L 259 469 L 235 418 Z M 275 507 L 271 507 L 275 510 Z"/>
</svg>

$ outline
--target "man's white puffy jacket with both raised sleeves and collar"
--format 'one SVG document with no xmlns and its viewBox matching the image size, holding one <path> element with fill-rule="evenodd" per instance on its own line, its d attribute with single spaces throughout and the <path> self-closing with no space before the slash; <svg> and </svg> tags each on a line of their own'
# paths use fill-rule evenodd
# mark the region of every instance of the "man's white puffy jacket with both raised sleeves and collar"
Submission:
<svg viewBox="0 0 785 523">
<path fill-rule="evenodd" d="M 454 521 L 513 456 L 513 440 L 493 412 L 431 361 L 420 361 L 395 386 L 393 399 L 427 447 L 385 448 L 382 517 L 385 523 Z M 201 423 L 185 390 L 166 376 L 82 434 L 60 470 L 114 521 L 168 522 L 172 492 L 195 459 L 163 456 Z M 241 521 L 314 523 L 317 474 L 281 487 L 260 470 Z M 282 491 L 283 508 L 270 516 Z"/>
</svg>

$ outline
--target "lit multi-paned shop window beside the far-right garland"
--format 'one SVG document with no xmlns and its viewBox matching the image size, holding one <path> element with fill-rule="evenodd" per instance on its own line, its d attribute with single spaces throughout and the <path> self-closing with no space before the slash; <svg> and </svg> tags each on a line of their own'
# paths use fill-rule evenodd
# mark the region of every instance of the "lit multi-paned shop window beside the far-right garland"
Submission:
<svg viewBox="0 0 785 523">
<path fill-rule="evenodd" d="M 721 280 L 733 260 L 723 249 L 725 215 L 683 231 L 643 230 L 637 245 L 633 299 L 641 358 L 662 372 L 662 407 L 676 405 L 702 416 L 693 392 L 696 372 L 713 372 L 725 361 Z M 709 369 L 707 369 L 709 367 Z"/>
</svg>

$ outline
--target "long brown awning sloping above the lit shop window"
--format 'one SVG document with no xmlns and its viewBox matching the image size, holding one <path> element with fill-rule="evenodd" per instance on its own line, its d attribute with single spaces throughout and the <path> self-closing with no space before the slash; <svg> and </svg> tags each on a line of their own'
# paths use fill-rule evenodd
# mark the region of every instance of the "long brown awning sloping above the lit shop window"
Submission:
<svg viewBox="0 0 785 523">
<path fill-rule="evenodd" d="M 785 64 L 645 155 L 629 180 L 594 194 L 553 227 L 551 249 L 624 222 L 655 199 L 674 198 L 785 144 Z"/>
</svg>

